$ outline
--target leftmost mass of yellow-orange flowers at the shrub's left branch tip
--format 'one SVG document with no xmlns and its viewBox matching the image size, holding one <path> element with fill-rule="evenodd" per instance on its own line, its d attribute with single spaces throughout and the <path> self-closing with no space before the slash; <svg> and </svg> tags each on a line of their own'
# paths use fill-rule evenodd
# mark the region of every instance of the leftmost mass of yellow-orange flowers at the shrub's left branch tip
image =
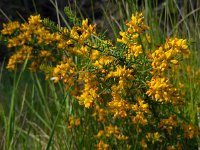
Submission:
<svg viewBox="0 0 200 150">
<path fill-rule="evenodd" d="M 16 34 L 14 34 L 14 32 Z M 15 69 L 16 64 L 23 63 L 26 59 L 32 60 L 30 69 L 36 70 L 44 61 L 53 62 L 55 59 L 48 50 L 38 49 L 35 46 L 38 44 L 49 44 L 56 41 L 57 38 L 54 33 L 50 33 L 42 26 L 42 20 L 39 15 L 30 16 L 28 23 L 20 24 L 18 22 L 11 22 L 4 25 L 2 34 L 10 36 L 8 38 L 8 47 L 15 47 L 16 52 L 10 57 L 7 65 L 8 69 Z M 37 44 L 33 42 L 37 41 Z"/>
</svg>

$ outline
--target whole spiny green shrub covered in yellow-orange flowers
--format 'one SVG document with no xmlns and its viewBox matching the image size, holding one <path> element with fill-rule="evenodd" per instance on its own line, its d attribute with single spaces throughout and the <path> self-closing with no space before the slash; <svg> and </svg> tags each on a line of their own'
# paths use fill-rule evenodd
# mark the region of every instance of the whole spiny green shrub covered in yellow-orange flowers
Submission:
<svg viewBox="0 0 200 150">
<path fill-rule="evenodd" d="M 168 38 L 154 48 L 142 13 L 132 15 L 114 42 L 95 28 L 88 19 L 71 29 L 58 28 L 39 15 L 27 23 L 4 24 L 1 41 L 15 49 L 7 69 L 15 71 L 28 59 L 29 69 L 62 82 L 71 100 L 86 108 L 94 128 L 88 129 L 84 115 L 70 116 L 69 132 L 78 127 L 86 136 L 92 132 L 94 148 L 197 147 L 198 129 L 183 115 L 184 86 L 174 84 L 173 77 L 190 54 L 187 41 Z"/>
</svg>

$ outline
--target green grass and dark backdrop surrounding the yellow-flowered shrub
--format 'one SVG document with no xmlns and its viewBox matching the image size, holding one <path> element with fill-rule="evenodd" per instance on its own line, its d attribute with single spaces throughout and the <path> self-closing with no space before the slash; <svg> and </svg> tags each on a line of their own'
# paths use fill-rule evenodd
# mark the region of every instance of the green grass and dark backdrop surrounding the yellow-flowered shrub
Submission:
<svg viewBox="0 0 200 150">
<path fill-rule="evenodd" d="M 1 22 L 23 20 L 32 13 L 40 13 L 42 17 L 50 17 L 63 26 L 70 25 L 63 13 L 64 5 L 68 5 L 80 18 L 89 17 L 90 22 L 97 23 L 98 31 L 110 38 L 118 37 L 119 30 L 124 29 L 124 22 L 136 11 L 143 11 L 146 23 L 152 29 L 152 42 L 159 45 L 167 36 L 178 36 L 189 39 L 193 51 L 192 59 L 187 64 L 192 71 L 185 69 L 182 78 L 188 88 L 189 105 L 185 110 L 198 125 L 197 105 L 200 103 L 200 79 L 196 72 L 200 68 L 200 1 L 198 0 L 166 0 L 155 1 L 43 1 L 27 3 L 27 1 L 9 1 L 6 9 L 1 1 Z M 63 2 L 63 3 L 62 3 Z M 140 3 L 139 3 L 140 2 Z M 24 4 L 22 10 L 27 13 L 17 13 L 13 16 L 10 10 Z M 46 11 L 44 7 L 49 8 Z M 16 6 L 16 7 L 15 7 Z M 17 9 L 16 9 L 17 10 Z M 49 12 L 43 14 L 44 12 Z M 4 12 L 4 13 L 2 13 Z M 16 11 L 17 12 L 17 11 Z M 43 12 L 43 13 L 42 13 Z M 77 128 L 69 132 L 65 119 L 73 114 L 87 116 L 87 110 L 76 104 L 64 91 L 62 84 L 44 81 L 44 76 L 25 70 L 26 63 L 16 72 L 5 69 L 5 55 L 9 55 L 3 46 L 0 47 L 0 149 L 90 149 L 90 138 L 84 133 L 88 129 Z M 2 54 L 3 53 L 3 54 Z M 4 58 L 3 58 L 4 57 Z M 200 75 L 200 73 L 199 73 Z M 196 79 L 197 78 L 197 79 Z M 190 79 L 190 80 L 188 80 Z M 77 109 L 72 109 L 76 105 Z M 84 112 L 84 113 L 82 113 Z M 87 117 L 86 117 L 87 116 Z M 90 130 L 96 131 L 92 122 Z M 86 126 L 86 125 L 85 125 Z M 92 137 L 93 135 L 91 135 Z M 88 136 L 87 136 L 88 137 Z"/>
</svg>

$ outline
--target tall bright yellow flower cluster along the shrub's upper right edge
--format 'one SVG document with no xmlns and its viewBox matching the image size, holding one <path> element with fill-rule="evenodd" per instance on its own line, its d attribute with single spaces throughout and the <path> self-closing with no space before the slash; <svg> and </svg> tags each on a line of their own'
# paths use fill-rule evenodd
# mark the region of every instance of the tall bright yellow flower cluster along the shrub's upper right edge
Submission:
<svg viewBox="0 0 200 150">
<path fill-rule="evenodd" d="M 153 77 L 147 82 L 149 90 L 146 94 L 158 102 L 183 103 L 183 95 L 170 84 L 170 80 L 165 73 L 173 68 L 174 65 L 178 65 L 177 59 L 180 55 L 187 56 L 188 54 L 186 40 L 177 38 L 167 39 L 163 46 L 155 50 L 151 58 L 151 74 Z"/>
</svg>

